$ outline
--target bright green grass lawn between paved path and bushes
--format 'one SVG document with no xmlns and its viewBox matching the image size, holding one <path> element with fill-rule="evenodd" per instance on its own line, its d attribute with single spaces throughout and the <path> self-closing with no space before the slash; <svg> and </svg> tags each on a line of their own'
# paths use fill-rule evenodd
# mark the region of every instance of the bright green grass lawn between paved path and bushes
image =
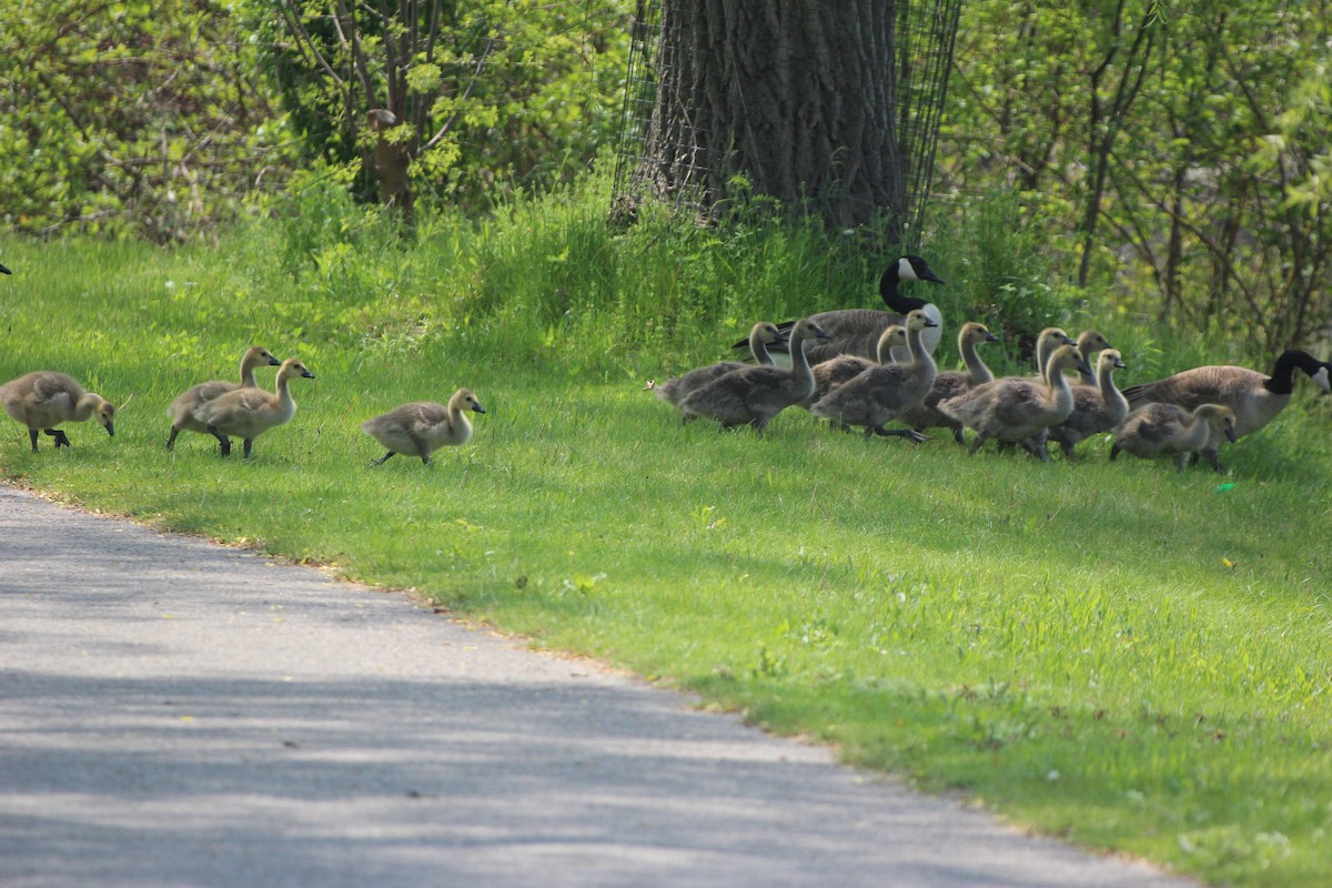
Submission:
<svg viewBox="0 0 1332 888">
<path fill-rule="evenodd" d="M 1110 465 L 1100 441 L 1039 465 L 797 413 L 766 439 L 681 426 L 646 378 L 710 359 L 754 317 L 858 298 L 875 274 L 781 226 L 723 238 L 647 220 L 611 237 L 599 206 L 438 221 L 410 249 L 373 220 L 174 253 L 4 244 L 4 378 L 63 369 L 128 405 L 113 439 L 71 426 L 60 453 L 28 453 L 5 419 L 0 466 L 93 509 L 414 587 L 1088 847 L 1216 884 L 1325 884 L 1332 446 L 1312 386 L 1223 451 L 1224 479 Z M 951 286 L 964 236 L 936 262 Z M 1126 385 L 1171 366 L 1110 326 Z M 200 435 L 165 451 L 170 398 L 230 378 L 252 342 L 317 374 L 293 383 L 293 423 L 249 462 Z M 433 470 L 368 467 L 362 419 L 458 385 L 488 409 L 470 445 Z"/>
</svg>

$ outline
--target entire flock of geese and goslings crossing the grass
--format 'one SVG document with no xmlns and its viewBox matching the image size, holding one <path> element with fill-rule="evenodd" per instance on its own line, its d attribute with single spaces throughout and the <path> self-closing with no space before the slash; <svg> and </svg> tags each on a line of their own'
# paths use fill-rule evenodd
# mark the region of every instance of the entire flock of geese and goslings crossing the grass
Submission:
<svg viewBox="0 0 1332 888">
<path fill-rule="evenodd" d="M 9 269 L 0 265 L 0 272 Z M 923 258 L 903 256 L 879 282 L 888 310 L 843 309 L 787 324 L 759 322 L 749 339 L 737 343 L 750 350 L 754 363 L 721 361 L 661 385 L 649 382 L 649 389 L 678 407 L 686 422 L 747 425 L 759 435 L 795 406 L 836 429 L 863 429 L 866 437 L 919 443 L 928 441 L 927 429 L 950 429 L 964 445 L 970 429 L 971 454 L 994 439 L 1000 449 L 1018 445 L 1042 461 L 1050 459 L 1050 441 L 1071 461 L 1080 441 L 1110 433 L 1111 459 L 1120 453 L 1173 454 L 1183 469 L 1189 458 L 1201 457 L 1217 471 L 1221 441 L 1233 442 L 1271 422 L 1291 399 L 1296 370 L 1332 394 L 1332 365 L 1299 349 L 1284 351 L 1271 375 L 1204 366 L 1120 390 L 1115 385 L 1115 371 L 1124 369 L 1120 353 L 1095 330 L 1072 339 L 1059 328 L 1047 328 L 1038 338 L 1036 375 L 995 378 L 978 347 L 998 337 L 976 322 L 963 324 L 958 333 L 966 369 L 940 371 L 934 351 L 943 314 L 936 305 L 903 294 L 904 281 L 943 284 Z M 1090 359 L 1096 353 L 1094 370 Z M 264 366 L 278 367 L 272 393 L 254 378 Z M 1066 370 L 1078 371 L 1075 383 Z M 290 382 L 297 378 L 314 374 L 297 358 L 278 361 L 268 349 L 250 347 L 241 357 L 238 383 L 201 382 L 170 402 L 166 449 L 174 447 L 181 431 L 192 431 L 216 438 L 222 457 L 230 455 L 232 438 L 240 438 L 249 458 L 256 438 L 296 415 Z M 111 401 L 53 370 L 0 386 L 0 405 L 27 426 L 33 451 L 41 434 L 55 438 L 56 449 L 68 447 L 69 438 L 59 429 L 65 422 L 96 418 L 108 434 L 116 430 Z M 469 413 L 485 409 L 470 390 L 458 389 L 446 405 L 416 401 L 365 421 L 361 430 L 385 449 L 372 465 L 397 454 L 430 465 L 434 450 L 472 438 Z"/>
</svg>

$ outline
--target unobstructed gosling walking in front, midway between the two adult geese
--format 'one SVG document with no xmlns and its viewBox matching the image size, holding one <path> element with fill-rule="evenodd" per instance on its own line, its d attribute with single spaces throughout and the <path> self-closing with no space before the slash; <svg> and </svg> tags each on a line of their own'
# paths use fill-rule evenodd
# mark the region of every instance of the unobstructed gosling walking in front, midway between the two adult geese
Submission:
<svg viewBox="0 0 1332 888">
<path fill-rule="evenodd" d="M 998 438 L 1020 443 L 1031 454 L 1048 462 L 1043 433 L 1067 419 L 1074 409 L 1074 393 L 1063 371 L 1084 363 L 1078 346 L 1062 345 L 1046 363 L 1044 382 L 1004 377 L 942 402 L 939 410 L 968 429 L 975 429 L 976 435 L 968 450 L 971 454 L 990 438 Z"/>
</svg>

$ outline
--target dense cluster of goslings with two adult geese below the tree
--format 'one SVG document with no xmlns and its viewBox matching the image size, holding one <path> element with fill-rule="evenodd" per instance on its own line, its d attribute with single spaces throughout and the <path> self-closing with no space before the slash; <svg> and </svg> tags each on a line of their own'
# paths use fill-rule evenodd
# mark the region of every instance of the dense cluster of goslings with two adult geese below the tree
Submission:
<svg viewBox="0 0 1332 888">
<path fill-rule="evenodd" d="M 823 312 L 786 324 L 759 322 L 747 341 L 754 363 L 721 361 L 657 385 L 658 397 L 674 405 L 685 422 L 718 421 L 722 427 L 753 426 L 762 434 L 777 414 L 803 407 L 834 427 L 864 430 L 912 442 L 927 441 L 927 429 L 951 429 L 958 443 L 975 454 L 987 441 L 1000 449 L 1024 447 L 1050 459 L 1048 442 L 1074 459 L 1078 442 L 1110 433 L 1110 458 L 1120 453 L 1151 459 L 1171 454 L 1183 469 L 1205 458 L 1223 471 L 1223 441 L 1236 441 L 1271 422 L 1291 401 L 1295 371 L 1332 394 L 1332 363 L 1291 349 L 1271 375 L 1240 366 L 1203 366 L 1120 390 L 1115 371 L 1122 354 L 1100 333 L 1076 339 L 1047 328 L 1036 342 L 1038 375 L 995 378 L 978 346 L 995 342 L 983 324 L 963 324 L 958 349 L 964 370 L 939 371 L 934 351 L 943 334 L 938 306 L 904 296 L 903 281 L 943 284 L 919 256 L 888 266 L 879 294 L 888 310 Z M 790 355 L 779 366 L 774 355 Z M 1095 369 L 1092 354 L 1099 353 Z M 1079 377 L 1070 383 L 1067 370 Z M 895 427 L 888 427 L 894 423 Z"/>
</svg>

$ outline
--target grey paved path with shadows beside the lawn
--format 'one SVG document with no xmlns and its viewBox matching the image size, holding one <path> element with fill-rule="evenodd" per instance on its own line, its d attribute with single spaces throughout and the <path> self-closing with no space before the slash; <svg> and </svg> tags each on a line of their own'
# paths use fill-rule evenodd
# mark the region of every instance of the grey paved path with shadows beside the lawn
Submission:
<svg viewBox="0 0 1332 888">
<path fill-rule="evenodd" d="M 400 594 L 0 486 L 0 885 L 1188 885 Z"/>
</svg>

